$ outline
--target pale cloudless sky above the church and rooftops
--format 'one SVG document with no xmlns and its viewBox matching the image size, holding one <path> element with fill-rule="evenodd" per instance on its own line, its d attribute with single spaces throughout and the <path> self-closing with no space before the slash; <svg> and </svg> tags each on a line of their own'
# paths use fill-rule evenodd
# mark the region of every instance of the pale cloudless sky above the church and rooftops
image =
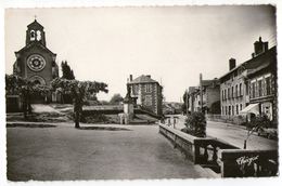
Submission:
<svg viewBox="0 0 282 186">
<path fill-rule="evenodd" d="M 229 58 L 249 59 L 259 36 L 275 45 L 269 5 L 7 9 L 7 74 L 35 15 L 59 66 L 67 61 L 78 80 L 107 83 L 110 92 L 98 94 L 106 101 L 126 95 L 129 75 L 151 75 L 166 102 L 180 102 L 201 72 L 203 79 L 220 78 Z"/>
</svg>

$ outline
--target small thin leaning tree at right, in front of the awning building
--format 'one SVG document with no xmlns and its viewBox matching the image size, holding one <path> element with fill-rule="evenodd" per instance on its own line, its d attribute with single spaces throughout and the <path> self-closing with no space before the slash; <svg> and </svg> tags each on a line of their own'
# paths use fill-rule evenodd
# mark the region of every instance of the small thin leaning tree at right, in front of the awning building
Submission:
<svg viewBox="0 0 282 186">
<path fill-rule="evenodd" d="M 246 138 L 244 140 L 244 149 L 246 149 L 247 140 L 254 132 L 264 130 L 264 128 L 269 128 L 269 127 L 271 127 L 271 121 L 266 115 L 253 117 L 251 122 L 246 123 L 247 135 Z"/>
</svg>

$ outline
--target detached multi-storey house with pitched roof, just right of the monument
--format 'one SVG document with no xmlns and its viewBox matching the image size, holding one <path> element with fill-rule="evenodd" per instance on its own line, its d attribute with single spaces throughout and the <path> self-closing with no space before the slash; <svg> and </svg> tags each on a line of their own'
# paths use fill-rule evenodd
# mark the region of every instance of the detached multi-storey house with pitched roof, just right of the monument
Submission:
<svg viewBox="0 0 282 186">
<path fill-rule="evenodd" d="M 156 115 L 163 114 L 163 87 L 150 75 L 142 75 L 136 79 L 130 75 L 127 85 L 130 87 L 131 97 L 136 99 L 137 105 Z"/>
</svg>

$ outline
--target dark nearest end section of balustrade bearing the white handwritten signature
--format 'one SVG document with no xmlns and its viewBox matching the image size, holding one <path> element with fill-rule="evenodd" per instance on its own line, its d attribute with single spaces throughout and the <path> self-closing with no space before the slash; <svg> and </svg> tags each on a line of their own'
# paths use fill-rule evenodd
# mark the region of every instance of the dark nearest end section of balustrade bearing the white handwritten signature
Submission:
<svg viewBox="0 0 282 186">
<path fill-rule="evenodd" d="M 278 175 L 278 150 L 219 150 L 222 177 Z"/>
</svg>

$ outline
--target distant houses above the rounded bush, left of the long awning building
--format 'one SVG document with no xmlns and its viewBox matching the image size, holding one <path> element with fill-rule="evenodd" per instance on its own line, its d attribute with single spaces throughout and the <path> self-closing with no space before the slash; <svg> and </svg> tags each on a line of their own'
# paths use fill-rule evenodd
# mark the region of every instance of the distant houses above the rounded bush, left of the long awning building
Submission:
<svg viewBox="0 0 282 186">
<path fill-rule="evenodd" d="M 218 114 L 218 110 L 220 110 L 219 91 L 220 90 L 218 79 L 202 80 L 201 78 L 198 87 L 189 88 L 189 111 L 204 111 L 205 114 Z M 203 99 L 201 95 L 203 95 Z"/>
</svg>

